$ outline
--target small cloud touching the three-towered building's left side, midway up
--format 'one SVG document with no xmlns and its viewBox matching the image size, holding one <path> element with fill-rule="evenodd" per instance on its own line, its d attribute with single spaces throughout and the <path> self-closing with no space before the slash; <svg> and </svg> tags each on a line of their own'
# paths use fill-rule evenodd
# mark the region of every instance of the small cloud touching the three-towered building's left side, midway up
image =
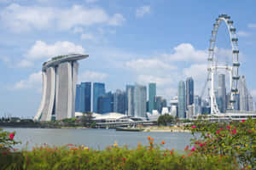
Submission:
<svg viewBox="0 0 256 170">
<path fill-rule="evenodd" d="M 29 75 L 27 79 L 20 80 L 20 82 L 15 83 L 15 89 L 36 89 L 38 92 L 42 90 L 42 72 L 36 72 Z"/>
</svg>

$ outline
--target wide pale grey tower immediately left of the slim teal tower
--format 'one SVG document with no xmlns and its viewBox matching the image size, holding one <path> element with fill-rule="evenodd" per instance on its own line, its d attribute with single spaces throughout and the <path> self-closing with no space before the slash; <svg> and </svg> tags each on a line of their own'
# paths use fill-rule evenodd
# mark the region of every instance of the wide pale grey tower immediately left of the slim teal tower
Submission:
<svg viewBox="0 0 256 170">
<path fill-rule="evenodd" d="M 147 105 L 147 87 L 139 84 L 134 88 L 134 116 L 145 117 Z"/>
</svg>

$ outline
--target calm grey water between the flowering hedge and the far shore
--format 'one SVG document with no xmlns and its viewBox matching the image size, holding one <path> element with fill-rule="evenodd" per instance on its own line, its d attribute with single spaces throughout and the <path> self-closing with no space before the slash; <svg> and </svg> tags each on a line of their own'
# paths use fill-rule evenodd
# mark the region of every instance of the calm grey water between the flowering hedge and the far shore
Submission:
<svg viewBox="0 0 256 170">
<path fill-rule="evenodd" d="M 15 140 L 22 144 L 15 148 L 32 150 L 33 146 L 49 144 L 61 146 L 64 144 L 84 144 L 96 150 L 104 150 L 114 142 L 128 148 L 136 148 L 138 143 L 148 144 L 147 137 L 154 138 L 154 143 L 160 144 L 165 140 L 165 149 L 183 150 L 192 138 L 190 133 L 153 133 L 153 132 L 122 132 L 114 129 L 51 129 L 51 128 L 4 128 L 4 130 L 15 131 Z"/>
</svg>

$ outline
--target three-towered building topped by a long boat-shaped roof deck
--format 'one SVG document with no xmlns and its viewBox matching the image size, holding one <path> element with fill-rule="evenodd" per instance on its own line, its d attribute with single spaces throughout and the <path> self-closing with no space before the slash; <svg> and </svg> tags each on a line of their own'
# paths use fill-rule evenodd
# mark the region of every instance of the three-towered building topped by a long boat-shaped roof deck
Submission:
<svg viewBox="0 0 256 170">
<path fill-rule="evenodd" d="M 60 55 L 44 62 L 43 98 L 37 121 L 50 121 L 71 118 L 75 116 L 75 95 L 79 64 L 77 60 L 88 55 Z"/>
</svg>

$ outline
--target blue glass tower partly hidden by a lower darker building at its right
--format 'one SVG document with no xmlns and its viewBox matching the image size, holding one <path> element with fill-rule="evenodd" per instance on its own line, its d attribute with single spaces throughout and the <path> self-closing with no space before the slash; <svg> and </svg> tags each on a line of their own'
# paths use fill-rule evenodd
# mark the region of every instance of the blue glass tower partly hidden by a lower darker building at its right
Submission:
<svg viewBox="0 0 256 170">
<path fill-rule="evenodd" d="M 93 83 L 93 112 L 97 112 L 98 98 L 105 94 L 105 84 L 101 82 Z"/>
</svg>

